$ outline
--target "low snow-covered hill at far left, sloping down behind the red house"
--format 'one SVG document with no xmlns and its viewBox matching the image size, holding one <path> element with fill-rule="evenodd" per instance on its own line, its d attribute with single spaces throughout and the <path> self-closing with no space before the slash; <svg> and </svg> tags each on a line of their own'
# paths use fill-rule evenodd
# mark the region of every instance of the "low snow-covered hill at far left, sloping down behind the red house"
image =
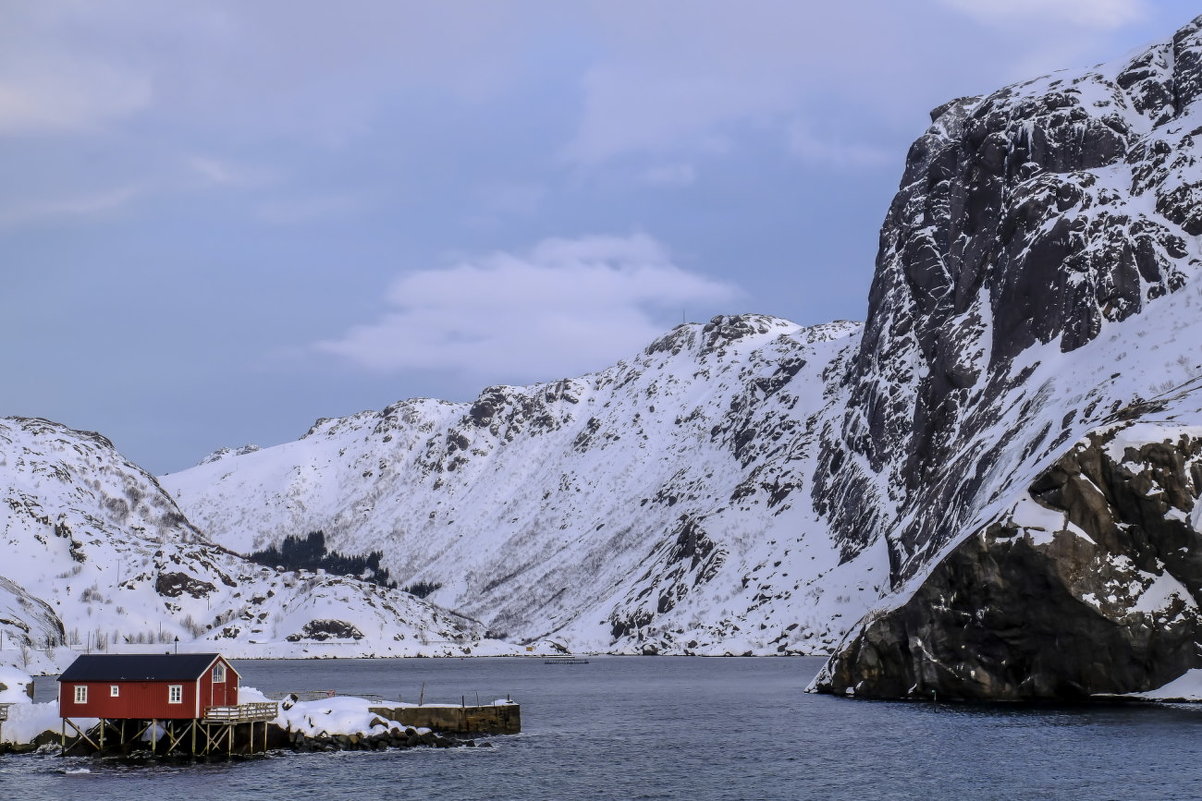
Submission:
<svg viewBox="0 0 1202 801">
<path fill-rule="evenodd" d="M 99 434 L 0 419 L 0 494 L 4 661 L 175 637 L 242 657 L 495 651 L 477 623 L 407 593 L 213 545 Z"/>
</svg>

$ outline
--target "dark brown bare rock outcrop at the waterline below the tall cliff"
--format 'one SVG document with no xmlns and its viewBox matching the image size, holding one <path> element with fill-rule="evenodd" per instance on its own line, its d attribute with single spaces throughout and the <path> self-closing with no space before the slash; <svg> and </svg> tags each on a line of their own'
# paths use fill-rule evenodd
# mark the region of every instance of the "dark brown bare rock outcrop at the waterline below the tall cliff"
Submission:
<svg viewBox="0 0 1202 801">
<path fill-rule="evenodd" d="M 1200 665 L 1202 440 L 1115 458 L 1090 437 L 1029 504 L 968 538 L 869 619 L 819 688 L 868 698 L 1033 700 L 1155 689 Z M 1059 521 L 1053 528 L 1046 521 Z M 1045 524 L 1039 524 L 1045 523 Z"/>
</svg>

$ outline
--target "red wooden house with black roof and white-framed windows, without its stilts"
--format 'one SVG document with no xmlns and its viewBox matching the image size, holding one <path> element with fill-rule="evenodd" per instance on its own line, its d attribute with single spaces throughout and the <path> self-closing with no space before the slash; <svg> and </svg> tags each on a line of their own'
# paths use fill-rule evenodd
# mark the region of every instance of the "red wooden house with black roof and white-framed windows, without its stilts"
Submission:
<svg viewBox="0 0 1202 801">
<path fill-rule="evenodd" d="M 198 719 L 238 705 L 238 671 L 218 653 L 88 654 L 59 676 L 59 716 Z"/>
</svg>

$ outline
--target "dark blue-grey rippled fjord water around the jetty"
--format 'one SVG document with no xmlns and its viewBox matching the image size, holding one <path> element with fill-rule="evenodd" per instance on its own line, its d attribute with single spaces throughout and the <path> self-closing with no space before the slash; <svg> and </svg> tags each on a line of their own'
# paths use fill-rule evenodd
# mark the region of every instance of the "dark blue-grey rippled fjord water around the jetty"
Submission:
<svg viewBox="0 0 1202 801">
<path fill-rule="evenodd" d="M 1025 708 L 805 695 L 820 659 L 388 659 L 238 663 L 262 690 L 428 701 L 512 693 L 493 749 L 278 753 L 123 765 L 0 756 L 0 797 L 857 799 L 1202 797 L 1202 708 Z M 49 686 L 47 683 L 47 686 Z M 88 771 L 88 772 L 78 772 Z"/>
</svg>

